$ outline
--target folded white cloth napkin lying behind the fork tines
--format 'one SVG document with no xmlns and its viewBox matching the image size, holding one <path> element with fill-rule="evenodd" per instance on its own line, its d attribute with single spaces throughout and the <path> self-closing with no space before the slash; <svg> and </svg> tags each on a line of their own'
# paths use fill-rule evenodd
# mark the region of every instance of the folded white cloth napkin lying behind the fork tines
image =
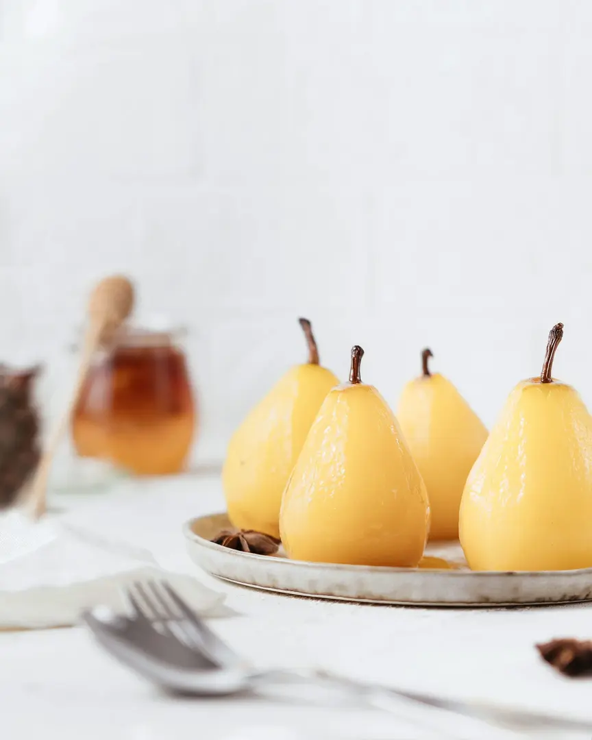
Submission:
<svg viewBox="0 0 592 740">
<path fill-rule="evenodd" d="M 19 511 L 0 517 L 0 628 L 75 625 L 99 604 L 124 611 L 121 588 L 149 578 L 166 578 L 201 614 L 215 615 L 224 599 L 124 542 L 65 522 L 32 522 Z"/>
</svg>

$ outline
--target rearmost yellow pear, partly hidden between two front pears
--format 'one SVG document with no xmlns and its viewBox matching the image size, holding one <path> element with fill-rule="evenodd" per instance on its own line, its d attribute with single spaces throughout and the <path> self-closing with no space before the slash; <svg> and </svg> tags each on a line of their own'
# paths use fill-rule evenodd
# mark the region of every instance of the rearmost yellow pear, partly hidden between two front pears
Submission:
<svg viewBox="0 0 592 740">
<path fill-rule="evenodd" d="M 450 380 L 429 371 L 430 357 L 424 349 L 423 374 L 403 388 L 397 419 L 428 489 L 430 539 L 458 539 L 462 489 L 487 429 Z"/>
</svg>

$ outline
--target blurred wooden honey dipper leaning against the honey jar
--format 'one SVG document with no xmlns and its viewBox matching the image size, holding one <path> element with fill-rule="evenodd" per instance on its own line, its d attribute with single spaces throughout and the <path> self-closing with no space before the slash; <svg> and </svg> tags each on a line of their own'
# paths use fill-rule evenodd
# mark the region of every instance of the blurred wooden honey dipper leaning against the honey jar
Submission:
<svg viewBox="0 0 592 740">
<path fill-rule="evenodd" d="M 67 431 L 76 403 L 78 403 L 78 397 L 90 369 L 92 356 L 98 346 L 112 336 L 113 332 L 127 319 L 132 312 L 133 303 L 134 289 L 132 283 L 127 277 L 121 275 L 105 277 L 90 294 L 87 306 L 87 330 L 84 334 L 75 386 L 64 414 L 58 424 L 55 425 L 52 434 L 50 434 L 30 486 L 29 500 L 34 519 L 41 517 L 47 510 L 47 480 L 51 464 L 61 438 Z"/>
</svg>

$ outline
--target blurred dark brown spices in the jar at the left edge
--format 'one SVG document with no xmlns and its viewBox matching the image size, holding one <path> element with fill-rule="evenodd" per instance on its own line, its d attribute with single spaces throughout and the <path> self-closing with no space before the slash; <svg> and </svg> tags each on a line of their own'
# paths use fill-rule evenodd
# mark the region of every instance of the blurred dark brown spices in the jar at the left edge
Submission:
<svg viewBox="0 0 592 740">
<path fill-rule="evenodd" d="M 0 508 L 18 497 L 41 456 L 33 390 L 41 367 L 15 370 L 0 364 Z"/>
</svg>

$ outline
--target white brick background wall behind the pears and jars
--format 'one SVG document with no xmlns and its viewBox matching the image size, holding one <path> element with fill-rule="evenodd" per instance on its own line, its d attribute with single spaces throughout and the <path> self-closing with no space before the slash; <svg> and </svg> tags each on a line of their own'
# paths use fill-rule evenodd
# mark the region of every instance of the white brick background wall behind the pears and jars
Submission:
<svg viewBox="0 0 592 740">
<path fill-rule="evenodd" d="M 202 457 L 299 315 L 393 404 L 428 344 L 488 424 L 562 320 L 592 403 L 591 39 L 587 0 L 0 0 L 0 358 L 57 387 L 123 270 L 192 330 Z"/>
</svg>

